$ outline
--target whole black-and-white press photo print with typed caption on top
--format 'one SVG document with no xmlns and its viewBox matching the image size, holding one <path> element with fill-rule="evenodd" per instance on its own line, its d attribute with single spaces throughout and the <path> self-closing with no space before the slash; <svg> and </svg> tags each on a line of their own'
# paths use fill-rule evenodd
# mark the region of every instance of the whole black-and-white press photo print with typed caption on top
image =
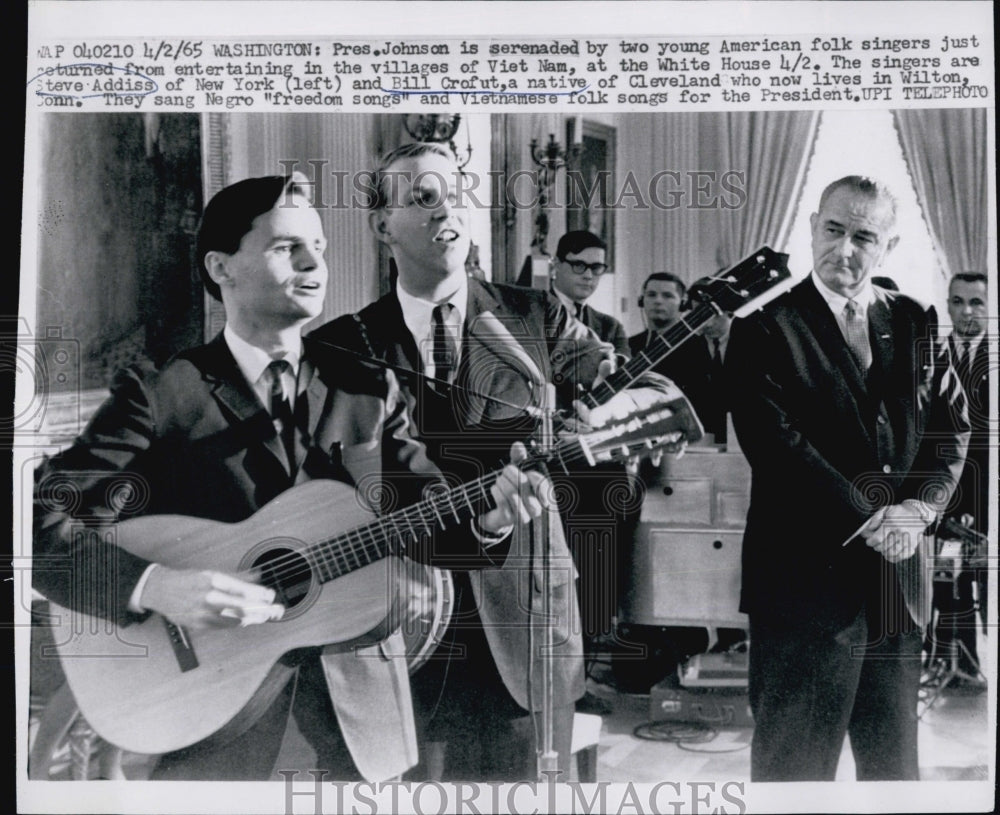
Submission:
<svg viewBox="0 0 1000 815">
<path fill-rule="evenodd" d="M 170 81 L 30 43 L 19 810 L 992 810 L 992 85 L 651 107 L 725 31 L 521 34 L 617 69 L 529 108 L 423 25 L 312 34 L 303 98 L 384 110 L 220 110 L 292 81 L 225 32 Z M 967 29 L 903 70 L 992 64 Z M 819 84 L 836 39 L 722 52 Z M 365 90 L 369 47 L 427 70 Z"/>
</svg>

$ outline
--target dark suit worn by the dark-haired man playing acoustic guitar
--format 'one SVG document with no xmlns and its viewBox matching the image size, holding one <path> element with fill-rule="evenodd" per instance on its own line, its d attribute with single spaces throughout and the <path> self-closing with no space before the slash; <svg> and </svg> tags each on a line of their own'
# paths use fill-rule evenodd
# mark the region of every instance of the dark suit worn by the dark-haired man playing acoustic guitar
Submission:
<svg viewBox="0 0 1000 815">
<path fill-rule="evenodd" d="M 302 431 L 297 481 L 357 483 L 381 477 L 383 471 L 406 473 L 410 477 L 401 480 L 400 489 L 415 498 L 420 484 L 439 475 L 423 446 L 407 436 L 404 405 L 391 376 L 373 375 L 308 340 L 304 360 L 303 374 L 309 367 L 313 374 L 296 400 Z M 414 473 L 421 478 L 414 480 Z M 40 568 L 34 572 L 34 585 L 46 596 L 63 605 L 79 605 L 74 573 L 42 567 L 80 556 L 74 551 L 74 519 L 110 519 L 111 492 L 123 475 L 139 486 L 126 502 L 131 512 L 122 517 L 176 513 L 240 521 L 292 486 L 271 417 L 222 335 L 181 353 L 159 371 L 137 366 L 120 373 L 111 398 L 76 443 L 39 469 L 34 554 Z M 76 497 L 71 504 L 54 499 L 66 485 Z M 467 536 L 454 538 L 464 545 Z M 113 591 L 85 595 L 110 598 L 110 604 L 86 610 L 127 626 L 136 619 L 127 602 L 147 565 L 118 550 Z M 387 597 L 387 609 L 391 600 Z M 344 740 L 361 773 L 371 779 L 397 775 L 416 761 L 406 663 L 399 658 L 403 651 L 396 632 L 365 649 L 366 658 L 325 655 L 322 671 L 315 652 L 309 659 L 289 659 L 287 677 L 298 674 L 291 720 L 295 683 L 289 681 L 252 730 L 228 749 L 196 747 L 162 761 L 159 772 L 163 777 L 209 780 L 267 778 L 290 721 L 297 723 L 293 729 L 312 745 L 319 762 L 293 768 L 344 766 L 344 745 L 336 737 L 330 709 L 332 694 Z"/>
</svg>

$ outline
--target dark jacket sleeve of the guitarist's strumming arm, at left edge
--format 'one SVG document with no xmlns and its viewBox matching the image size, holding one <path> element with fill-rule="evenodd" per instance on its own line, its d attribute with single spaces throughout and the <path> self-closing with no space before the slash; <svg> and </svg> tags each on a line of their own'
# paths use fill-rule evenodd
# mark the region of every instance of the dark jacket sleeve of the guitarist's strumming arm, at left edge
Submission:
<svg viewBox="0 0 1000 815">
<path fill-rule="evenodd" d="M 114 544 L 114 521 L 148 496 L 141 461 L 156 423 L 147 375 L 141 367 L 120 372 L 80 437 L 35 472 L 32 585 L 60 605 L 119 624 L 138 619 L 128 600 L 149 565 Z M 106 584 L 84 580 L 95 575 Z"/>
</svg>

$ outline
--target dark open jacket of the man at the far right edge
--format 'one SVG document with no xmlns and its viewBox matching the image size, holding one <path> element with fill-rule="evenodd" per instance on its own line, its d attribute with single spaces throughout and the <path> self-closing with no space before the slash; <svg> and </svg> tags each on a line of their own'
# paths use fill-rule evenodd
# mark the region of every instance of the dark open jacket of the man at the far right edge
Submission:
<svg viewBox="0 0 1000 815">
<path fill-rule="evenodd" d="M 958 369 L 959 348 L 955 335 L 948 340 L 948 352 L 952 365 Z M 967 375 L 962 379 L 962 389 L 969 406 L 969 422 L 972 435 L 969 438 L 969 454 L 962 470 L 958 490 L 949 507 L 949 512 L 961 516 L 965 513 L 975 519 L 975 529 L 986 532 L 987 516 L 991 494 L 996 495 L 996 479 L 989 478 L 990 451 L 990 359 L 989 338 L 984 337 L 979 348 L 969 362 Z M 991 493 L 990 487 L 993 487 Z"/>
</svg>

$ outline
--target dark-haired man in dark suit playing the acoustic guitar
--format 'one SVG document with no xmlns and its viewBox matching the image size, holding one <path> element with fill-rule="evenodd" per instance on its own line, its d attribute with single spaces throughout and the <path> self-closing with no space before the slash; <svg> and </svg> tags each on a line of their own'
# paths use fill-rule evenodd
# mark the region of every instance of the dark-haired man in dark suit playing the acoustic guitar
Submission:
<svg viewBox="0 0 1000 815">
<path fill-rule="evenodd" d="M 440 478 L 408 435 L 391 373 L 303 342 L 303 327 L 322 311 L 328 273 L 320 218 L 301 181 L 247 179 L 211 200 L 197 258 L 207 290 L 225 308 L 224 331 L 159 370 L 120 372 L 83 434 L 36 474 L 35 588 L 114 624 L 123 642 L 130 626 L 162 615 L 182 672 L 197 662 L 198 649 L 184 646 L 198 632 L 292 616 L 289 601 L 252 575 L 136 555 L 116 545 L 116 521 L 174 515 L 154 524 L 169 560 L 184 520 L 176 516 L 242 522 L 294 485 L 333 479 L 360 493 L 362 484 L 383 484 L 383 475 L 393 484 L 383 498 L 392 492 L 406 504 Z M 541 484 L 539 474 L 508 465 L 472 521 L 475 534 L 457 516 L 445 518 L 427 550 L 481 555 L 515 522 L 540 514 Z M 284 528 L 275 523 L 270 536 Z M 386 594 L 377 599 L 388 614 L 391 586 Z M 361 644 L 292 651 L 244 715 L 225 732 L 168 752 L 154 778 L 262 780 L 278 768 L 325 769 L 341 779 L 399 775 L 416 761 L 406 663 L 393 658 L 403 650 L 389 623 Z M 70 685 L 76 694 L 72 678 Z M 178 717 L 205 714 L 184 707 L 178 699 Z"/>
</svg>

